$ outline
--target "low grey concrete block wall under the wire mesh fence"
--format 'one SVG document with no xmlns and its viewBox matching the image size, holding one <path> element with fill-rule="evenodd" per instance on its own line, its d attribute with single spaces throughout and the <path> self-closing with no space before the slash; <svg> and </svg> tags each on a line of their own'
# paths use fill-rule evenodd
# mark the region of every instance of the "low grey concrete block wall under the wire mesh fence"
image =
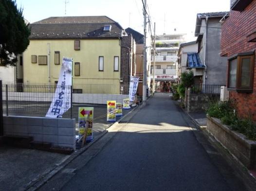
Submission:
<svg viewBox="0 0 256 191">
<path fill-rule="evenodd" d="M 4 116 L 6 136 L 30 136 L 35 141 L 75 149 L 75 119 Z"/>
</svg>

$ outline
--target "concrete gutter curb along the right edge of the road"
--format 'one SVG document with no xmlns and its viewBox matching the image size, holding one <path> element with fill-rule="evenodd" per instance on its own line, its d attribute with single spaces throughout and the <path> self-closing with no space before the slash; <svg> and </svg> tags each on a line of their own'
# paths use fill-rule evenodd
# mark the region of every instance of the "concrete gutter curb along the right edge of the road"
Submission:
<svg viewBox="0 0 256 191">
<path fill-rule="evenodd" d="M 182 108 L 183 109 L 183 108 Z M 256 178 L 249 172 L 249 170 L 242 165 L 238 159 L 234 158 L 232 154 L 228 150 L 226 150 L 221 143 L 219 143 L 214 136 L 212 136 L 206 128 L 202 128 L 195 119 L 189 115 L 187 111 L 183 109 L 184 113 L 186 113 L 189 118 L 192 120 L 194 125 L 198 130 L 202 132 L 202 134 L 206 137 L 206 139 L 213 145 L 213 147 L 220 153 L 221 156 L 230 164 L 230 167 L 239 174 L 239 178 L 242 180 L 248 191 L 255 191 L 256 188 Z"/>
</svg>

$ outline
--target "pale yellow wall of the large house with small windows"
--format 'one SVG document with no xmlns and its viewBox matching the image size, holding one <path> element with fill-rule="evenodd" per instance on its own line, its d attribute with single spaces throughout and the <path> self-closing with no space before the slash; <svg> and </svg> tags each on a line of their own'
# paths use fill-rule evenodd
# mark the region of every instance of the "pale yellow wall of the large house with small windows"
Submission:
<svg viewBox="0 0 256 191">
<path fill-rule="evenodd" d="M 111 93 L 119 93 L 121 60 L 119 39 L 81 39 L 79 51 L 74 50 L 74 40 L 72 39 L 31 40 L 29 47 L 23 54 L 24 83 L 48 84 L 48 65 L 38 65 L 38 55 L 47 55 L 48 43 L 50 43 L 51 52 L 51 85 L 58 81 L 61 63 L 55 65 L 54 62 L 55 51 L 59 51 L 60 60 L 63 56 L 73 58 L 73 67 L 74 62 L 80 62 L 80 76 L 74 76 L 73 72 L 74 88 L 75 85 L 83 87 L 87 84 L 95 86 L 113 85 L 116 86 L 116 90 Z M 31 55 L 37 55 L 37 64 L 31 63 Z M 104 71 L 99 71 L 99 56 L 104 56 Z M 119 71 L 113 71 L 114 56 L 119 56 Z M 83 91 L 83 93 L 86 92 Z"/>
</svg>

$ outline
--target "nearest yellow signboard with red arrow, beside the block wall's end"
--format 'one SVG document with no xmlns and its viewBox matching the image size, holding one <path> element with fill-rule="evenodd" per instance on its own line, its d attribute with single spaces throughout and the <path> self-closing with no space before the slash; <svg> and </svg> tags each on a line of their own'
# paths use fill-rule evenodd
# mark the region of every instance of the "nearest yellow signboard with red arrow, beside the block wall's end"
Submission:
<svg viewBox="0 0 256 191">
<path fill-rule="evenodd" d="M 93 107 L 79 107 L 78 109 L 79 121 L 79 139 L 83 137 L 87 131 L 86 141 L 91 141 L 92 137 L 92 124 L 93 124 Z"/>
</svg>

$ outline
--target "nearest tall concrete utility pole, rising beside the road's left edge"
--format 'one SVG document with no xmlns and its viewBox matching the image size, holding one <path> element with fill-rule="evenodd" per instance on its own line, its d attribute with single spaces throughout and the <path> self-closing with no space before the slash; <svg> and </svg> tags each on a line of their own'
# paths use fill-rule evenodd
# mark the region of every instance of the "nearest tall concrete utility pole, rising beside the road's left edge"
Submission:
<svg viewBox="0 0 256 191">
<path fill-rule="evenodd" d="M 146 105 L 146 89 L 147 89 L 147 78 L 146 78 L 146 65 L 147 65 L 147 58 L 146 58 L 146 0 L 144 0 L 143 4 L 143 15 L 144 15 L 144 47 L 143 47 L 143 92 L 142 92 L 142 101 L 143 105 Z"/>
</svg>

